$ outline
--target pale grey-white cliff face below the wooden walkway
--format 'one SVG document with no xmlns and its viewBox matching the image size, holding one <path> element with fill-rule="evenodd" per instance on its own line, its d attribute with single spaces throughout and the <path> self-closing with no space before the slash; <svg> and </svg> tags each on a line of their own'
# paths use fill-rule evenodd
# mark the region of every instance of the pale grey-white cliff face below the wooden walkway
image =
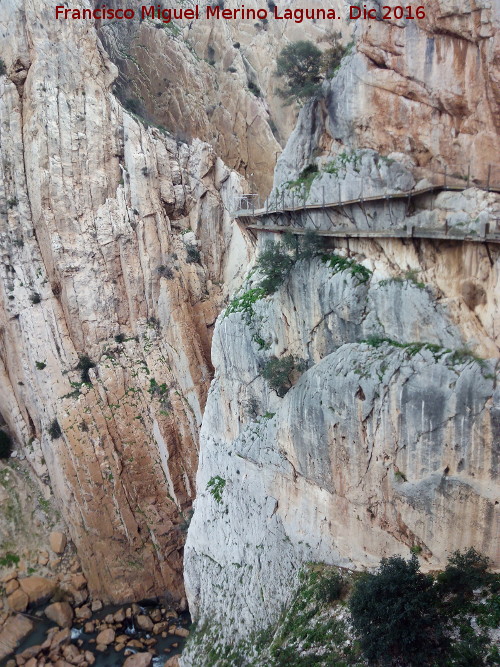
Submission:
<svg viewBox="0 0 500 667">
<path fill-rule="evenodd" d="M 275 621 L 308 561 L 370 567 L 416 547 L 435 569 L 475 545 L 499 564 L 496 359 L 450 352 L 470 325 L 490 345 L 493 332 L 465 304 L 453 317 L 456 297 L 438 288 L 460 255 L 464 280 L 479 270 L 498 290 L 498 252 L 494 267 L 473 244 L 351 242 L 351 252 L 374 270 L 369 283 L 303 262 L 257 302 L 250 325 L 239 313 L 218 320 L 185 553 L 209 641 L 232 644 Z M 425 287 L 404 279 L 415 267 Z M 361 342 L 374 336 L 436 348 Z M 279 398 L 262 369 L 288 354 L 307 370 Z M 207 486 L 216 476 L 220 504 Z M 201 664 L 197 651 L 203 642 L 184 664 Z"/>
</svg>

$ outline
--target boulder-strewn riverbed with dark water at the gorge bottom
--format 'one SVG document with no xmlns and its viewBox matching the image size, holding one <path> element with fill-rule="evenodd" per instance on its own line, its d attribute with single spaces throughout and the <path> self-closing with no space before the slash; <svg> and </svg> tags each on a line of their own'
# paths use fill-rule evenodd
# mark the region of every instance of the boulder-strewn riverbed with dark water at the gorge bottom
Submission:
<svg viewBox="0 0 500 667">
<path fill-rule="evenodd" d="M 66 551 L 64 534 L 52 533 L 50 543 L 55 554 Z M 1 577 L 6 609 L 0 616 L 2 664 L 177 665 L 176 654 L 189 635 L 185 599 L 106 607 L 90 596 L 78 559 L 65 565 L 64 572 L 53 576 L 24 576 L 25 571 L 13 568 Z"/>
</svg>

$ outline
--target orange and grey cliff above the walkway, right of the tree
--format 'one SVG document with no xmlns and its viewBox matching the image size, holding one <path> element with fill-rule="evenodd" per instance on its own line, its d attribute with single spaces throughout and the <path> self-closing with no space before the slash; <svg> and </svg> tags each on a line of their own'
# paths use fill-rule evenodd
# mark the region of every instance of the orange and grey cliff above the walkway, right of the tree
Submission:
<svg viewBox="0 0 500 667">
<path fill-rule="evenodd" d="M 376 3 L 367 3 L 376 7 Z M 358 21 L 355 51 L 301 114 L 275 184 L 341 152 L 404 154 L 418 173 L 500 182 L 500 10 L 488 0 L 425 3 L 426 17 Z M 319 158 L 319 159 L 318 159 Z"/>
</svg>

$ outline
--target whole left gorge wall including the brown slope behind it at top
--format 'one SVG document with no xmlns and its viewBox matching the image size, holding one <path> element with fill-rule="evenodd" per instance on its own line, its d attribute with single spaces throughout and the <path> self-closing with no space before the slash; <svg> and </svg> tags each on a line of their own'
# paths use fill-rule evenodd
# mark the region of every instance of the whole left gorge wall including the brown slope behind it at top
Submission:
<svg viewBox="0 0 500 667">
<path fill-rule="evenodd" d="M 250 257 L 228 211 L 269 190 L 272 117 L 284 140 L 296 116 L 272 72 L 304 31 L 282 24 L 2 5 L 0 529 L 24 570 L 67 524 L 95 594 L 183 593 L 213 326 Z"/>
</svg>

